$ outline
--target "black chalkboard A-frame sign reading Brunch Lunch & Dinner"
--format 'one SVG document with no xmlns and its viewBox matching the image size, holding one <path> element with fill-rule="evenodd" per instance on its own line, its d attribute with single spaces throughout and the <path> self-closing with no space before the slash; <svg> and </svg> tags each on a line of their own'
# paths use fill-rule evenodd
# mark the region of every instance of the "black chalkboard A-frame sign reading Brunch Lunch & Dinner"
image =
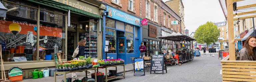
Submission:
<svg viewBox="0 0 256 82">
<path fill-rule="evenodd" d="M 150 74 L 151 71 L 162 71 L 162 74 L 164 74 L 164 67 L 167 73 L 167 69 L 166 66 L 164 66 L 165 62 L 164 62 L 164 55 L 160 54 L 160 55 L 153 55 L 151 57 L 151 68 L 150 68 Z"/>
</svg>

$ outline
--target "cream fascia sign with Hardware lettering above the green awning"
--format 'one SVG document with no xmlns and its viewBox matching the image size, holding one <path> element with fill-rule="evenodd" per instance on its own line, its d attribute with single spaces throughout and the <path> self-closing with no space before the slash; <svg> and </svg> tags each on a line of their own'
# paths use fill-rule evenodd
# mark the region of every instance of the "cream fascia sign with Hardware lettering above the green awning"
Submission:
<svg viewBox="0 0 256 82">
<path fill-rule="evenodd" d="M 93 14 L 98 15 L 98 13 L 99 13 L 99 12 L 97 12 L 97 10 L 92 11 L 94 9 L 98 9 L 97 7 L 88 5 L 88 4 L 83 3 L 83 2 L 79 2 L 77 0 L 53 0 L 53 1 L 57 1 L 57 2 L 60 2 L 60 3 L 66 4 L 66 5 L 69 5 L 71 7 L 74 7 L 74 8 L 93 13 Z"/>
</svg>

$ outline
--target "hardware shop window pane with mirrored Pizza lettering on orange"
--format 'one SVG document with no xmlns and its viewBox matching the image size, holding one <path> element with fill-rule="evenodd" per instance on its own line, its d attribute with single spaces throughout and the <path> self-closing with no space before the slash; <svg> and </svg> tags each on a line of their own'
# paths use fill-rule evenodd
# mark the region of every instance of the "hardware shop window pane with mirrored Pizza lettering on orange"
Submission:
<svg viewBox="0 0 256 82">
<path fill-rule="evenodd" d="M 47 8 L 44 8 L 47 9 Z M 65 59 L 65 27 L 64 16 L 47 11 L 40 11 L 39 59 L 53 60 L 54 53 L 60 53 Z"/>
</svg>

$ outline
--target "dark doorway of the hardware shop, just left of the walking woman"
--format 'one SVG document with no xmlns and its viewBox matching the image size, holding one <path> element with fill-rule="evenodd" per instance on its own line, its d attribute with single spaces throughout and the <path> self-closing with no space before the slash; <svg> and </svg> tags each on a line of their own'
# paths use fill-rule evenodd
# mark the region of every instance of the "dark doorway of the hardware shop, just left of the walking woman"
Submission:
<svg viewBox="0 0 256 82">
<path fill-rule="evenodd" d="M 68 60 L 71 60 L 73 58 L 71 58 L 70 56 L 73 55 L 73 52 L 75 50 L 75 48 L 77 47 L 77 41 L 76 41 L 76 32 L 73 31 L 68 31 L 68 43 L 67 43 L 67 55 L 69 55 L 67 57 Z"/>
</svg>

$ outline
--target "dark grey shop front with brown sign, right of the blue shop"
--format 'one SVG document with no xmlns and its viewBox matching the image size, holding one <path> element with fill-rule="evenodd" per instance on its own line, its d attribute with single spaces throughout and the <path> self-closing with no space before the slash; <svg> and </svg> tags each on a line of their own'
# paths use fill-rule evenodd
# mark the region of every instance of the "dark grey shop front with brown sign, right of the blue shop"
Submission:
<svg viewBox="0 0 256 82">
<path fill-rule="evenodd" d="M 142 26 L 142 39 L 146 46 L 146 56 L 151 56 L 160 53 L 160 39 L 156 37 L 161 36 L 161 27 L 148 22 L 148 25 Z"/>
</svg>

